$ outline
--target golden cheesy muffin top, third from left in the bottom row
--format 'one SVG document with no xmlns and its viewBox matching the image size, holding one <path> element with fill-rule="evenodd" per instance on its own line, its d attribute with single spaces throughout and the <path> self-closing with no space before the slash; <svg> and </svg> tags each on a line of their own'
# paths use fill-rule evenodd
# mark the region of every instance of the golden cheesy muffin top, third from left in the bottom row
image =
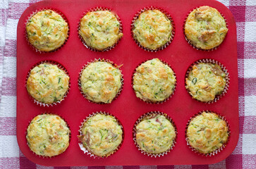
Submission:
<svg viewBox="0 0 256 169">
<path fill-rule="evenodd" d="M 175 129 L 164 115 L 146 117 L 136 125 L 136 142 L 140 149 L 150 154 L 168 151 L 175 137 Z"/>
</svg>

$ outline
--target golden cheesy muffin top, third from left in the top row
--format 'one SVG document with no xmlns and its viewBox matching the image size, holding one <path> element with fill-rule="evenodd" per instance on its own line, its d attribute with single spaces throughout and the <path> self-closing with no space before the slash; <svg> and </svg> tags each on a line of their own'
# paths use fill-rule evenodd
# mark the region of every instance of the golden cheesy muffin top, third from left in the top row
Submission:
<svg viewBox="0 0 256 169">
<path fill-rule="evenodd" d="M 159 10 L 147 10 L 140 13 L 133 26 L 133 37 L 148 49 L 164 46 L 171 39 L 173 27 L 169 18 Z"/>
</svg>

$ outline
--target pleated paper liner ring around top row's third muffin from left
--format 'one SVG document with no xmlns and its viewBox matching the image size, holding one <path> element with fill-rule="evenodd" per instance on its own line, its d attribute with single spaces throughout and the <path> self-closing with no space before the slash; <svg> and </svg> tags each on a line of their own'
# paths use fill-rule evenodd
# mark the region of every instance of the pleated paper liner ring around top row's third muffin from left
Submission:
<svg viewBox="0 0 256 169">
<path fill-rule="evenodd" d="M 166 42 L 166 44 L 164 44 L 164 46 L 161 46 L 157 49 L 149 49 L 147 47 L 144 47 L 140 44 L 140 42 L 138 42 L 137 39 L 135 39 L 134 35 L 133 35 L 133 30 L 134 30 L 134 23 L 135 21 L 139 18 L 140 14 L 143 13 L 144 11 L 147 10 L 154 10 L 157 9 L 159 11 L 161 11 L 161 13 L 164 13 L 164 15 L 166 15 L 166 17 L 171 21 L 171 26 L 173 27 L 173 30 L 171 30 L 171 38 L 169 40 L 169 42 Z M 132 23 L 130 24 L 130 34 L 133 37 L 134 41 L 136 44 L 138 44 L 138 46 L 140 46 L 140 48 L 144 49 L 145 51 L 151 51 L 151 52 L 157 52 L 157 51 L 161 51 L 163 49 L 165 49 L 167 46 L 169 46 L 169 44 L 171 44 L 171 42 L 173 41 L 174 35 L 175 35 L 175 24 L 173 19 L 171 18 L 171 15 L 167 12 L 164 11 L 164 9 L 156 7 L 156 6 L 147 6 L 145 8 L 142 8 L 140 11 L 138 11 L 134 16 L 133 16 L 133 20 Z"/>
</svg>

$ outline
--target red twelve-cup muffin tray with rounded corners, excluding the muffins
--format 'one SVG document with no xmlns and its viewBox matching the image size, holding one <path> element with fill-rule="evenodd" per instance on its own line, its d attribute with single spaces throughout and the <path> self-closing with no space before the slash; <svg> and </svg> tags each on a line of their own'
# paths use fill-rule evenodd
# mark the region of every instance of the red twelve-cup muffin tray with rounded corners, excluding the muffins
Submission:
<svg viewBox="0 0 256 169">
<path fill-rule="evenodd" d="M 214 51 L 197 51 L 185 40 L 183 22 L 190 10 L 198 6 L 217 8 L 226 18 L 228 34 L 226 39 Z M 97 6 L 110 8 L 116 12 L 123 23 L 123 38 L 111 51 L 95 52 L 87 49 L 78 37 L 78 22 L 85 11 Z M 149 52 L 135 44 L 130 35 L 130 23 L 135 13 L 147 6 L 157 6 L 171 14 L 176 26 L 173 42 L 166 49 Z M 25 39 L 25 22 L 33 11 L 41 8 L 56 8 L 63 13 L 70 25 L 70 37 L 58 51 L 39 54 L 33 51 Z M 17 32 L 17 139 L 23 154 L 40 165 L 182 165 L 209 164 L 224 160 L 235 149 L 238 142 L 238 62 L 236 49 L 236 23 L 231 11 L 218 1 L 205 0 L 95 0 L 95 1 L 40 1 L 28 7 L 21 15 Z M 83 65 L 95 58 L 105 58 L 121 67 L 124 85 L 123 91 L 111 104 L 93 104 L 88 102 L 78 89 L 78 76 Z M 171 65 L 176 73 L 176 91 L 163 104 L 147 104 L 135 96 L 131 87 L 131 77 L 137 65 L 147 59 L 160 58 Z M 202 58 L 212 58 L 226 66 L 230 73 L 230 87 L 227 94 L 217 103 L 204 104 L 192 99 L 185 90 L 185 73 L 191 63 Z M 25 89 L 28 71 L 35 63 L 52 60 L 61 63 L 70 74 L 71 89 L 61 104 L 56 106 L 37 106 L 31 101 Z M 215 111 L 224 115 L 231 129 L 230 140 L 226 148 L 215 156 L 199 156 L 188 148 L 185 142 L 185 125 L 190 117 L 202 110 Z M 87 115 L 96 111 L 106 111 L 115 115 L 124 127 L 124 141 L 114 155 L 108 158 L 92 158 L 83 154 L 78 146 L 80 123 Z M 138 151 L 133 142 L 133 125 L 143 113 L 162 111 L 173 119 L 178 129 L 176 146 L 169 154 L 160 158 L 151 158 Z M 68 149 L 53 158 L 42 158 L 30 151 L 25 132 L 28 123 L 40 113 L 51 112 L 61 115 L 71 128 L 71 142 Z"/>
</svg>

